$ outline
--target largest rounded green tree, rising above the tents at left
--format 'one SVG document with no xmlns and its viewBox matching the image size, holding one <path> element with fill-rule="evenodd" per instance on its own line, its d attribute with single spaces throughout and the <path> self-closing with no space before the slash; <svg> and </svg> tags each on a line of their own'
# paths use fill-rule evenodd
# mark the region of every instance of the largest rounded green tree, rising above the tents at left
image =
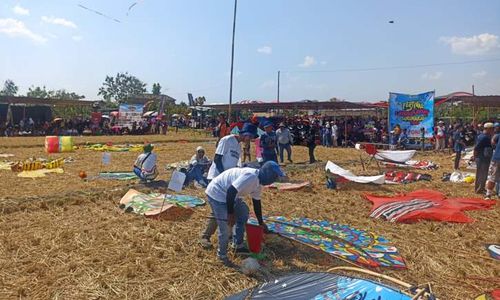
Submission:
<svg viewBox="0 0 500 300">
<path fill-rule="evenodd" d="M 106 76 L 98 95 L 107 101 L 123 103 L 127 99 L 144 94 L 146 84 L 128 73 L 117 73 L 116 77 Z"/>
</svg>

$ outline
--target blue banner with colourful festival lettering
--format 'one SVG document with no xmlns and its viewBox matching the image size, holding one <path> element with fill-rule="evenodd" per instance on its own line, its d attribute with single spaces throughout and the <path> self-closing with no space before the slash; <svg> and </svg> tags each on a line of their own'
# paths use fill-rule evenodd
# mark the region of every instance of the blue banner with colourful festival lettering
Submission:
<svg viewBox="0 0 500 300">
<path fill-rule="evenodd" d="M 399 125 L 411 138 L 430 138 L 434 133 L 434 92 L 418 95 L 389 94 L 389 131 Z"/>
</svg>

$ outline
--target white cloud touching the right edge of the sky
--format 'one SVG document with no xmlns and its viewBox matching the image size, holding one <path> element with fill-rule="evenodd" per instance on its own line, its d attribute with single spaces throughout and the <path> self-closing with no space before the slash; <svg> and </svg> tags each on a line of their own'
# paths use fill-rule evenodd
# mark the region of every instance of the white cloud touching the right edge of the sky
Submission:
<svg viewBox="0 0 500 300">
<path fill-rule="evenodd" d="M 498 36 L 491 33 L 482 33 L 471 37 L 441 37 L 439 40 L 450 45 L 451 51 L 456 54 L 482 55 L 500 49 Z"/>
</svg>

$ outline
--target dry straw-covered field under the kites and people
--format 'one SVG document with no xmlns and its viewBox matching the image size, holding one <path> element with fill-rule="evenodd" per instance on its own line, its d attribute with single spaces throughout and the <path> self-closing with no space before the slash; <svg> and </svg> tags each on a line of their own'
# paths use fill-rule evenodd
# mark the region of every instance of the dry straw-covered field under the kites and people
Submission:
<svg viewBox="0 0 500 300">
<path fill-rule="evenodd" d="M 169 133 L 168 136 L 79 137 L 76 142 L 132 142 L 156 144 L 160 179 L 168 181 L 164 165 L 186 160 L 198 145 L 213 157 L 215 143 L 204 134 Z M 188 142 L 179 143 L 178 140 Z M 47 157 L 44 138 L 1 138 L 0 153 L 14 159 Z M 304 162 L 307 149 L 294 147 L 294 160 Z M 354 149 L 319 147 L 317 158 L 362 173 Z M 113 153 L 105 170 L 129 171 L 137 153 Z M 137 181 L 83 181 L 100 169 L 101 153 L 85 149 L 51 157 L 71 156 L 64 174 L 38 179 L 19 178 L 0 171 L 0 299 L 221 299 L 259 281 L 220 265 L 215 250 L 203 250 L 197 240 L 209 207 L 195 209 L 190 218 L 176 221 L 145 219 L 124 214 L 120 198 L 130 187 L 148 192 Z M 467 184 L 443 183 L 451 170 L 448 155 L 419 154 L 441 165 L 432 182 L 408 185 L 342 184 L 325 187 L 323 165 L 289 165 L 291 179 L 310 180 L 311 189 L 297 192 L 266 190 L 265 215 L 332 220 L 373 231 L 391 240 L 408 269 L 378 270 L 410 283 L 431 282 L 440 299 L 473 299 L 500 285 L 500 263 L 489 257 L 485 243 L 500 243 L 500 208 L 467 212 L 473 224 L 421 222 L 392 224 L 368 217 L 371 204 L 363 192 L 394 193 L 430 188 L 448 196 L 474 196 Z M 365 172 L 377 173 L 375 167 Z M 203 196 L 188 188 L 183 193 Z M 215 239 L 215 238 L 214 238 Z M 215 243 L 215 241 L 214 241 Z M 327 254 L 268 236 L 263 264 L 272 276 L 298 271 L 325 271 L 345 265 Z M 239 260 L 235 258 L 238 262 Z M 475 277 L 476 279 L 471 279 Z M 480 279 L 477 279 L 480 278 Z"/>
</svg>

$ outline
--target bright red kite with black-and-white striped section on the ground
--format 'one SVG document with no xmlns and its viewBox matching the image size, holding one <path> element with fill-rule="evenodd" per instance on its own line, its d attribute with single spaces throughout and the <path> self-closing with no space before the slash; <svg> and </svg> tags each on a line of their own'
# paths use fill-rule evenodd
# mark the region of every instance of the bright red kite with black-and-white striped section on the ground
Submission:
<svg viewBox="0 0 500 300">
<path fill-rule="evenodd" d="M 486 210 L 496 203 L 480 198 L 449 199 L 433 190 L 417 190 L 393 197 L 366 194 L 365 197 L 373 203 L 370 217 L 401 223 L 420 220 L 471 223 L 474 219 L 463 211 Z"/>
</svg>

